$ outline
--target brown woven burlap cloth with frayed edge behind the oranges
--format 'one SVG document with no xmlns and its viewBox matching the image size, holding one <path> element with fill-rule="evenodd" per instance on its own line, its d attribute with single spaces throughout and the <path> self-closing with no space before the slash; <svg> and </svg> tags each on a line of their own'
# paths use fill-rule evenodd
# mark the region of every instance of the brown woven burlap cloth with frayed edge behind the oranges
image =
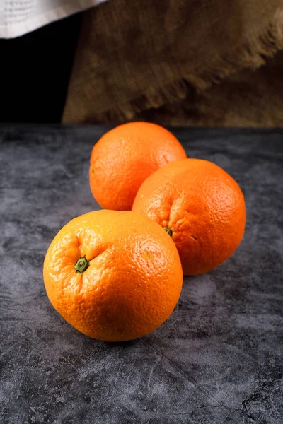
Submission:
<svg viewBox="0 0 283 424">
<path fill-rule="evenodd" d="M 283 126 L 283 0 L 110 0 L 87 11 L 62 122 Z"/>
</svg>

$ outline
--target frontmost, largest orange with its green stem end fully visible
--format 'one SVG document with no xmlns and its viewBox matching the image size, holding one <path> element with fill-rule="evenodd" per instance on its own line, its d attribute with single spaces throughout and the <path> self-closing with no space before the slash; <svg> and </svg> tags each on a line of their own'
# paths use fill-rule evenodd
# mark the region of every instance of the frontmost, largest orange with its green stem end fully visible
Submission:
<svg viewBox="0 0 283 424">
<path fill-rule="evenodd" d="M 173 312 L 183 282 L 171 237 L 131 211 L 101 210 L 71 220 L 47 250 L 43 276 L 57 312 L 103 341 L 154 331 Z"/>
</svg>

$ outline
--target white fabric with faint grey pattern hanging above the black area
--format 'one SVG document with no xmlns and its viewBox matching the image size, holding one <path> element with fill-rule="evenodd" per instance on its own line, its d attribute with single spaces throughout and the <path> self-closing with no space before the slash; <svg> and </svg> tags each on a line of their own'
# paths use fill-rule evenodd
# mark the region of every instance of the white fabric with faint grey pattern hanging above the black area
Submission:
<svg viewBox="0 0 283 424">
<path fill-rule="evenodd" d="M 107 0 L 0 0 L 0 38 L 18 37 Z"/>
</svg>

